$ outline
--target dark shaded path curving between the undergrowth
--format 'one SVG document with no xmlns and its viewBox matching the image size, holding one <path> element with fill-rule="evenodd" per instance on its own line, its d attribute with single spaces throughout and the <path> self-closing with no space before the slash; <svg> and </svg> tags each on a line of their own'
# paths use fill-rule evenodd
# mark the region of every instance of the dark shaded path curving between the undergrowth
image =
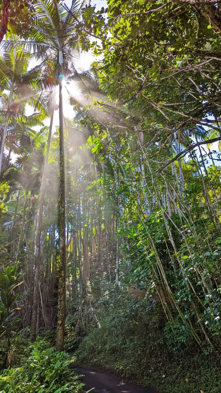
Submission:
<svg viewBox="0 0 221 393">
<path fill-rule="evenodd" d="M 153 389 L 139 386 L 126 385 L 120 382 L 117 378 L 98 373 L 97 371 L 88 370 L 82 367 L 76 367 L 75 371 L 82 376 L 82 381 L 85 383 L 85 391 L 94 387 L 94 393 L 157 393 Z"/>
</svg>

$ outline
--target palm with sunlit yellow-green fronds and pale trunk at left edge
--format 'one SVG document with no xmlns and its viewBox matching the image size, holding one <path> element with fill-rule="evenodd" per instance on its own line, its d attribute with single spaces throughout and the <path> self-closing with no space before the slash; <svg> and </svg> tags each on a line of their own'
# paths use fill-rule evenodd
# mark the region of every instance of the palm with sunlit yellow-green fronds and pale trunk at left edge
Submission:
<svg viewBox="0 0 221 393">
<path fill-rule="evenodd" d="M 0 56 L 0 105 L 5 118 L 0 149 L 0 171 L 9 122 L 12 117 L 17 119 L 18 123 L 25 121 L 25 104 L 33 105 L 34 96 L 41 88 L 39 66 L 29 70 L 31 55 L 24 46 L 15 46 L 14 43 L 13 40 L 9 41 L 9 46 Z"/>
</svg>

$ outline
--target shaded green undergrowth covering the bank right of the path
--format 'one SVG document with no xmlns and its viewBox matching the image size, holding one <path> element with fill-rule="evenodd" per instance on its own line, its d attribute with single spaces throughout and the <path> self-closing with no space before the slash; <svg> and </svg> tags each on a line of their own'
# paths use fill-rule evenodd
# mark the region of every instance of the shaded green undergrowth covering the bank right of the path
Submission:
<svg viewBox="0 0 221 393">
<path fill-rule="evenodd" d="M 160 393 L 220 393 L 221 371 L 208 347 L 184 342 L 179 330 L 168 337 L 157 313 L 144 301 L 128 301 L 123 292 L 112 298 L 109 293 L 101 299 L 99 326 L 76 351 L 77 363 Z"/>
</svg>

